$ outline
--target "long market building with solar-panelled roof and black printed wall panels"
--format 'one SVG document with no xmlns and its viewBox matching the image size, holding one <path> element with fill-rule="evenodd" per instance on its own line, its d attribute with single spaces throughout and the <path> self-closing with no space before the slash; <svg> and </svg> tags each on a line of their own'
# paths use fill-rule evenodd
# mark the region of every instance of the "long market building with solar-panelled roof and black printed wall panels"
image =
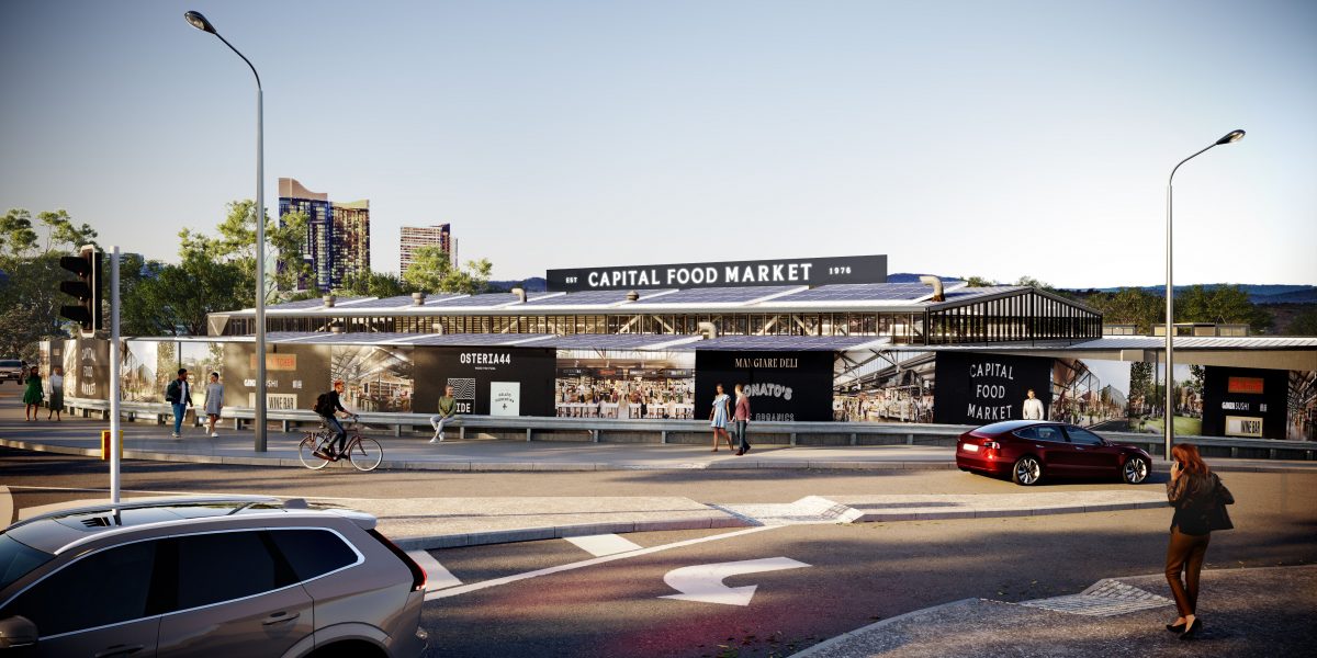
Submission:
<svg viewBox="0 0 1317 658">
<path fill-rule="evenodd" d="M 344 379 L 365 411 L 425 413 L 453 386 L 464 413 L 701 418 L 718 384 L 739 383 L 757 421 L 975 425 L 1021 417 L 1034 391 L 1048 418 L 1158 428 L 1163 338 L 1104 337 L 1100 313 L 1030 287 L 902 279 L 868 255 L 552 270 L 548 292 L 279 304 L 266 311 L 267 407 L 309 408 Z M 227 405 L 252 407 L 252 309 L 212 313 L 208 337 L 125 341 L 122 390 L 151 401 L 182 366 L 221 372 Z M 104 395 L 104 341 L 71 342 L 50 345 L 51 361 L 87 374 L 66 387 Z M 1172 411 L 1197 432 L 1317 438 L 1317 338 L 1185 336 L 1176 359 Z"/>
</svg>

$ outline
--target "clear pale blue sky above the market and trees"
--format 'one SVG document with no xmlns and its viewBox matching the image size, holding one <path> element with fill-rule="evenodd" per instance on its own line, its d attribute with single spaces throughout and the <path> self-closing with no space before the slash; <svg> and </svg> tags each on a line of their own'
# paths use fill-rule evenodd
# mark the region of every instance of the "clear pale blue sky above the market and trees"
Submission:
<svg viewBox="0 0 1317 658">
<path fill-rule="evenodd" d="M 889 254 L 890 271 L 1317 284 L 1317 3 L 0 3 L 0 205 L 175 261 L 277 178 L 450 222 L 494 275 Z"/>
</svg>

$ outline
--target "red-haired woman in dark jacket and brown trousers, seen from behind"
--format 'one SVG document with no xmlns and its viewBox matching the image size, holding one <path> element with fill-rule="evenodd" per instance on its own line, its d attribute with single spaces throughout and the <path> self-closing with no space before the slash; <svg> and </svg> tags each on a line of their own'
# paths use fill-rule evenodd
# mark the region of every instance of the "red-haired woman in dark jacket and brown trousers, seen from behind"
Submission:
<svg viewBox="0 0 1317 658">
<path fill-rule="evenodd" d="M 1175 517 L 1166 549 L 1166 579 L 1180 616 L 1166 629 L 1179 633 L 1180 640 L 1192 640 L 1202 629 L 1202 620 L 1197 617 L 1202 559 L 1212 542 L 1212 530 L 1234 528 L 1223 507 L 1234 504 L 1234 496 L 1202 462 L 1197 446 L 1176 443 L 1171 458 L 1175 462 L 1171 465 L 1171 482 L 1166 484 L 1166 497 L 1175 507 Z"/>
</svg>

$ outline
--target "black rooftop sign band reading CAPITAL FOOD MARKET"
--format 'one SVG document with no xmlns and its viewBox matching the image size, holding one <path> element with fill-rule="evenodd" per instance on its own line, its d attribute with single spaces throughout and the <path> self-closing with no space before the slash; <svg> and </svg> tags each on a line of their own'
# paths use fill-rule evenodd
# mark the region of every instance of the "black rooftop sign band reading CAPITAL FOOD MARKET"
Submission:
<svg viewBox="0 0 1317 658">
<path fill-rule="evenodd" d="M 780 261 L 578 267 L 549 270 L 544 279 L 548 290 L 553 292 L 886 283 L 888 257 L 848 255 Z"/>
</svg>

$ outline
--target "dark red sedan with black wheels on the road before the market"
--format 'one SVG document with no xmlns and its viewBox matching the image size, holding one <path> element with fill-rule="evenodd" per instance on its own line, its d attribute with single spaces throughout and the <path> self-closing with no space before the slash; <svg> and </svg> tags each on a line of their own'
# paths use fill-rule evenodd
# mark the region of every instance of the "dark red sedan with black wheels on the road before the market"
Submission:
<svg viewBox="0 0 1317 658">
<path fill-rule="evenodd" d="M 1113 443 L 1087 429 L 1040 420 L 993 422 L 960 434 L 956 466 L 961 471 L 1010 475 L 1015 484 L 1033 486 L 1043 478 L 1119 476 L 1139 484 L 1148 476 L 1152 457 L 1127 445 Z"/>
</svg>

